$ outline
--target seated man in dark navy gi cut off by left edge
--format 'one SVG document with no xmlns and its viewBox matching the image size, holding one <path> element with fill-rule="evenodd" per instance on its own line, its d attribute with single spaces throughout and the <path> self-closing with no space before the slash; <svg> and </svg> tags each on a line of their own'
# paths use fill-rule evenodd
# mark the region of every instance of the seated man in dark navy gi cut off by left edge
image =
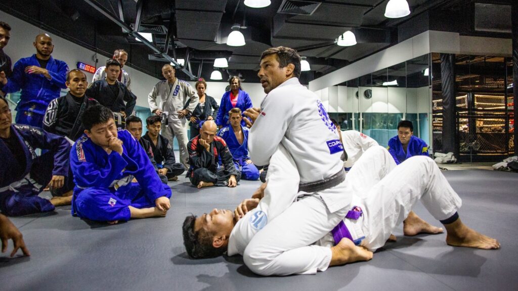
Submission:
<svg viewBox="0 0 518 291">
<path fill-rule="evenodd" d="M 52 211 L 63 205 L 61 197 L 49 201 L 38 194 L 49 182 L 51 188 L 64 188 L 64 196 L 74 187 L 66 179 L 70 143 L 41 128 L 11 122 L 7 100 L 0 97 L 0 210 L 9 216 Z M 36 149 L 47 151 L 37 155 Z"/>
</svg>

